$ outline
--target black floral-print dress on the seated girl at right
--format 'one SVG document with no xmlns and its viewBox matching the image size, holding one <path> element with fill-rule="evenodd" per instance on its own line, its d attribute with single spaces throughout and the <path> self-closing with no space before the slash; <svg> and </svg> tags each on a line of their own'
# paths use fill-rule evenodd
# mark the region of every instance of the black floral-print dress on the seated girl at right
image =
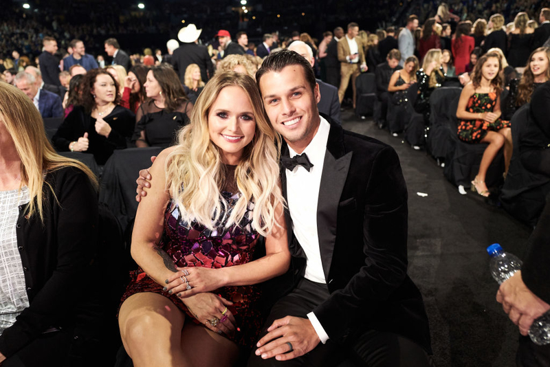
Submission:
<svg viewBox="0 0 550 367">
<path fill-rule="evenodd" d="M 485 113 L 492 112 L 496 104 L 497 94 L 491 93 L 474 93 L 468 100 L 466 111 L 470 113 Z M 500 120 L 495 122 L 487 122 L 485 120 L 460 120 L 458 134 L 459 139 L 467 143 L 478 143 L 483 140 L 487 131 L 498 131 L 510 127 L 510 122 Z"/>
</svg>

